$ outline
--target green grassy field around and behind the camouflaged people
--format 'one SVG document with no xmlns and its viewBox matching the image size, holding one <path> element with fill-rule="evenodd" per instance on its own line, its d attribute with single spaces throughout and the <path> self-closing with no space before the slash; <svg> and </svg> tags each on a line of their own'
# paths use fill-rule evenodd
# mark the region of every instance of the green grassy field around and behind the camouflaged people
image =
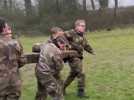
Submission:
<svg viewBox="0 0 134 100">
<path fill-rule="evenodd" d="M 25 52 L 31 52 L 35 42 L 47 37 L 23 37 Z M 89 99 L 76 97 L 76 81 L 67 89 L 65 100 L 134 100 L 134 29 L 115 29 L 87 34 L 87 39 L 95 50 L 92 56 L 85 52 L 84 71 L 86 73 L 86 93 Z M 34 64 L 21 69 L 23 80 L 22 99 L 34 100 L 36 79 Z M 63 72 L 68 73 L 68 66 Z M 63 75 L 63 74 L 62 74 Z M 63 75 L 62 77 L 65 77 Z"/>
</svg>

